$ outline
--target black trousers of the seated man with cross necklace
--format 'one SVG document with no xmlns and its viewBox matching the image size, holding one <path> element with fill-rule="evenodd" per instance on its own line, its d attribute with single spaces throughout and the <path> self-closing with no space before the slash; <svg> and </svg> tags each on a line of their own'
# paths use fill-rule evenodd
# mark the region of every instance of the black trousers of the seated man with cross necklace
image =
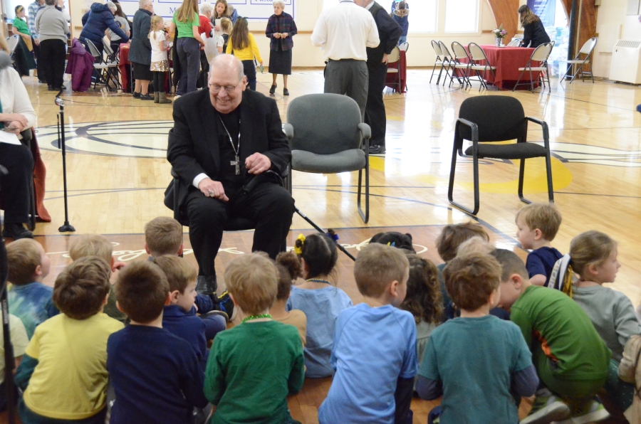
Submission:
<svg viewBox="0 0 641 424">
<path fill-rule="evenodd" d="M 227 219 L 240 216 L 256 221 L 254 245 L 276 259 L 286 248 L 291 226 L 294 200 L 286 189 L 277 184 L 259 184 L 249 194 L 241 186 L 223 184 L 228 202 L 206 197 L 199 189 L 190 187 L 187 195 L 189 240 L 198 262 L 199 275 L 216 275 L 214 259 L 222 241 Z"/>
</svg>

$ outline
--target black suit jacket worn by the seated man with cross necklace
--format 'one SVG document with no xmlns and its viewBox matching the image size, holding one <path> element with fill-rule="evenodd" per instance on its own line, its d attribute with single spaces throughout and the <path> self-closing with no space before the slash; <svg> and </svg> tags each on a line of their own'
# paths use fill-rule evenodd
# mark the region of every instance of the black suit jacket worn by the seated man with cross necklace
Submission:
<svg viewBox="0 0 641 424">
<path fill-rule="evenodd" d="M 259 152 L 271 160 L 271 170 L 282 175 L 291 161 L 291 149 L 283 133 L 276 101 L 259 92 L 245 90 L 241 109 L 241 163 Z M 179 206 L 189 186 L 201 173 L 219 180 L 218 126 L 209 90 L 198 90 L 174 102 L 174 127 L 169 133 L 167 160 L 179 175 Z M 249 176 L 245 177 L 249 181 Z M 245 181 L 245 182 L 247 182 Z M 176 189 L 174 187 L 174 189 Z"/>
</svg>

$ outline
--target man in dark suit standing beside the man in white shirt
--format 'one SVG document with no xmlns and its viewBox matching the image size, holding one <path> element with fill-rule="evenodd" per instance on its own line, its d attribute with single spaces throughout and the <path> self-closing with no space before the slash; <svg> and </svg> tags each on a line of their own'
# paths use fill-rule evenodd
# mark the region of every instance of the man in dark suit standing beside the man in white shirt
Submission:
<svg viewBox="0 0 641 424">
<path fill-rule="evenodd" d="M 376 1 L 358 0 L 357 4 L 368 9 L 374 16 L 378 28 L 378 38 L 380 38 L 380 44 L 377 47 L 368 47 L 367 49 L 370 78 L 368 103 L 365 106 L 365 123 L 372 128 L 370 154 L 385 153 L 387 116 L 385 115 L 382 91 L 385 89 L 385 78 L 387 77 L 387 55 L 392 53 L 392 50 L 397 46 L 402 29 Z"/>
</svg>

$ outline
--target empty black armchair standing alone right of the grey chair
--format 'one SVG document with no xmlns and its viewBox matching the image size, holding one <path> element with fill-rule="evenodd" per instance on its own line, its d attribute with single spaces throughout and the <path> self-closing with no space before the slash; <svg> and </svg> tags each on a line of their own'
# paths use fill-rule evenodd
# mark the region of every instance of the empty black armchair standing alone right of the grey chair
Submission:
<svg viewBox="0 0 641 424">
<path fill-rule="evenodd" d="M 543 146 L 527 142 L 528 121 L 541 125 L 543 129 Z M 452 148 L 452 167 L 449 171 L 447 198 L 449 203 L 462 210 L 476 215 L 479 211 L 479 158 L 521 159 L 518 171 L 518 198 L 531 203 L 523 197 L 523 175 L 525 161 L 534 157 L 546 158 L 548 178 L 548 200 L 554 201 L 552 189 L 552 166 L 550 159 L 550 141 L 548 124 L 533 117 L 526 117 L 521 102 L 507 96 L 478 96 L 465 100 L 459 110 L 459 119 L 454 128 L 454 147 Z M 493 144 L 516 139 L 514 144 Z M 472 145 L 463 154 L 463 140 L 470 140 Z M 454 172 L 457 155 L 471 157 L 474 166 L 474 209 L 469 209 L 454 202 Z"/>
</svg>

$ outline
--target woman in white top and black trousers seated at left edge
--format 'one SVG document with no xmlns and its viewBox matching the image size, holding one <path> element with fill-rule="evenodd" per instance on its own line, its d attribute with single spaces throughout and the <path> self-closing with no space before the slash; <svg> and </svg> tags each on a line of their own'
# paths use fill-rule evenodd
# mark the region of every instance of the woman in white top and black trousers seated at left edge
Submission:
<svg viewBox="0 0 641 424">
<path fill-rule="evenodd" d="M 58 13 L 58 11 L 56 11 Z M 36 111 L 20 75 L 11 67 L 9 47 L 0 37 L 0 128 L 20 134 L 36 124 Z M 3 237 L 33 238 L 24 228 L 29 220 L 29 184 L 33 172 L 33 156 L 23 144 L 0 142 L 0 166 L 9 174 L 0 174 L 0 198 L 4 203 Z"/>
</svg>

